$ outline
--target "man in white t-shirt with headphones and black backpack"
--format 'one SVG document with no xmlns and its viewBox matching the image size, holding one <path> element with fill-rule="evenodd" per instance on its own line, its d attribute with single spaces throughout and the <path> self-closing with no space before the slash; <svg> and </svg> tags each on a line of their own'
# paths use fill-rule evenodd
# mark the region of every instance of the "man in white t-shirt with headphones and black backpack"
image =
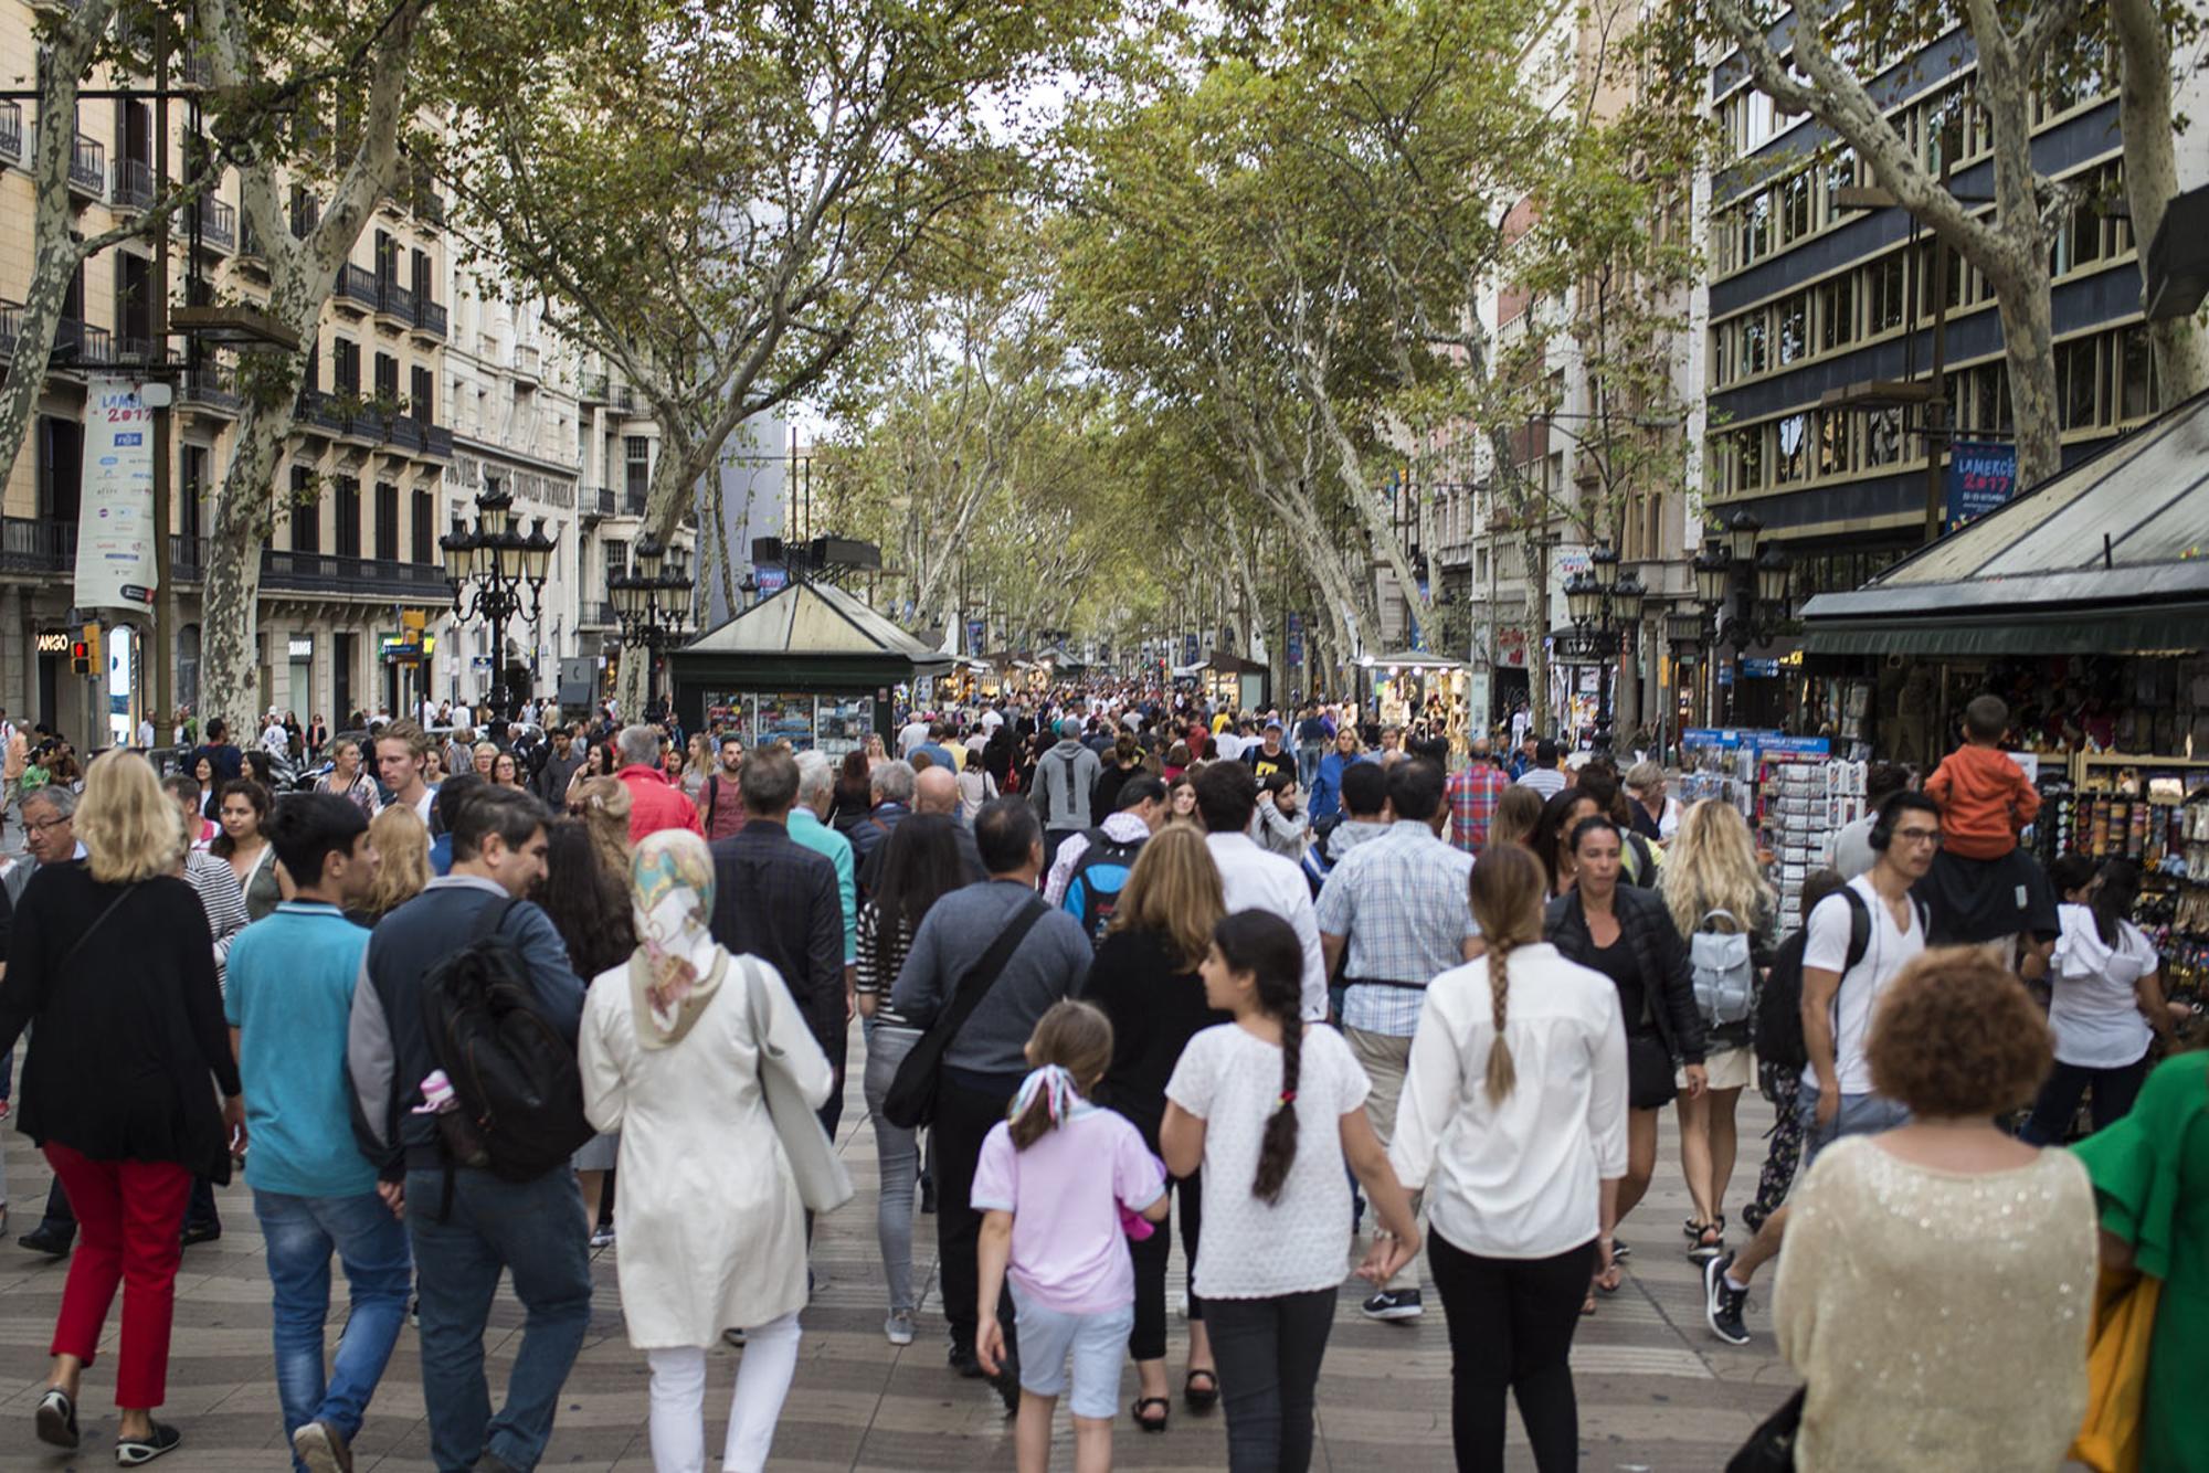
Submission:
<svg viewBox="0 0 2209 1473">
<path fill-rule="evenodd" d="M 1909 1122 L 1909 1111 L 1871 1091 L 1864 1045 L 1889 983 L 1926 950 L 1926 908 L 1911 886 L 1940 850 L 1940 806 L 1924 793 L 1895 793 L 1871 830 L 1878 861 L 1840 892 L 1818 901 L 1803 943 L 1803 1170 L 1842 1135 L 1875 1135 Z M 1767 998 L 1785 1007 L 1785 998 Z M 1703 1265 L 1703 1316 L 1727 1345 L 1747 1345 L 1741 1312 L 1750 1279 L 1778 1257 L 1787 1234 L 1783 1206 L 1738 1254 Z"/>
</svg>

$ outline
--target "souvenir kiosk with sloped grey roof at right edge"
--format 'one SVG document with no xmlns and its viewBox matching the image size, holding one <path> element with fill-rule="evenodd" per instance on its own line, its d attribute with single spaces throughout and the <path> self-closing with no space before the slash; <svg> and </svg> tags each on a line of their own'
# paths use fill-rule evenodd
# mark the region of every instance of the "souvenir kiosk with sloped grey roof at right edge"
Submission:
<svg viewBox="0 0 2209 1473">
<path fill-rule="evenodd" d="M 2041 791 L 2032 844 L 2123 855 L 2165 985 L 2209 978 L 2209 395 L 1803 610 L 1814 678 L 1867 689 L 1871 751 L 1928 769 L 1979 693 Z"/>
</svg>

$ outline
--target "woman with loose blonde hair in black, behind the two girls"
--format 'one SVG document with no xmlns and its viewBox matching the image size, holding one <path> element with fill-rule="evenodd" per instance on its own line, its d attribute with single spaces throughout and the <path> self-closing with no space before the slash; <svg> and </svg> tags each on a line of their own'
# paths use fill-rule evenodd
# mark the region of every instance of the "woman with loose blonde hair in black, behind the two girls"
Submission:
<svg viewBox="0 0 2209 1473">
<path fill-rule="evenodd" d="M 1166 1080 L 1182 1049 L 1228 1014 L 1213 1011 L 1204 1000 L 1204 978 L 1197 963 L 1211 950 L 1213 928 L 1226 914 L 1219 890 L 1219 868 L 1204 833 L 1188 824 L 1169 824 L 1146 839 L 1135 868 L 1120 890 L 1111 930 L 1089 965 L 1082 998 L 1104 1009 L 1111 1020 L 1111 1067 L 1096 1091 L 1096 1102 L 1127 1115 L 1142 1133 L 1142 1144 L 1158 1151 L 1158 1128 L 1166 1115 Z M 1197 1299 L 1195 1263 L 1202 1228 L 1204 1181 L 1188 1175 L 1169 1181 L 1180 1195 L 1182 1252 L 1188 1263 L 1188 1374 L 1182 1396 L 1191 1411 L 1204 1411 L 1219 1400 L 1217 1363 L 1204 1329 L 1204 1301 Z M 1135 1325 L 1127 1336 L 1135 1360 L 1135 1424 L 1164 1431 L 1166 1400 L 1166 1252 L 1164 1223 L 1160 1232 L 1129 1243 L 1135 1259 Z"/>
</svg>

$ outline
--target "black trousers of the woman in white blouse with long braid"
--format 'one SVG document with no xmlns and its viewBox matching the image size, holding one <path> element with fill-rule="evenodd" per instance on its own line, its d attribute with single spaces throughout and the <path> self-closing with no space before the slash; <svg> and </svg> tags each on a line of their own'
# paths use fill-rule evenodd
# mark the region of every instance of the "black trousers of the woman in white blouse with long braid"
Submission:
<svg viewBox="0 0 2209 1473">
<path fill-rule="evenodd" d="M 1504 1466 L 1504 1391 L 1520 1405 L 1542 1473 L 1579 1464 L 1573 1332 L 1595 1272 L 1595 1239 L 1553 1259 L 1482 1259 L 1440 1232 L 1427 1265 L 1449 1318 L 1449 1431 L 1458 1473 Z"/>
</svg>

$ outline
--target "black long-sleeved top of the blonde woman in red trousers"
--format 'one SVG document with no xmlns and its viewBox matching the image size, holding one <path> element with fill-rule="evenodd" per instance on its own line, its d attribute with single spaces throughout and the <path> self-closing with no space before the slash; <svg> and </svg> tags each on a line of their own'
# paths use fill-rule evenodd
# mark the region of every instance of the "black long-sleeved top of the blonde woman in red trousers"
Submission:
<svg viewBox="0 0 2209 1473">
<path fill-rule="evenodd" d="M 239 1067 L 192 886 L 168 875 L 108 886 L 82 863 L 40 866 L 9 941 L 0 1053 L 27 1020 L 24 1135 L 95 1162 L 175 1162 L 230 1179 L 214 1089 L 236 1095 Z"/>
</svg>

